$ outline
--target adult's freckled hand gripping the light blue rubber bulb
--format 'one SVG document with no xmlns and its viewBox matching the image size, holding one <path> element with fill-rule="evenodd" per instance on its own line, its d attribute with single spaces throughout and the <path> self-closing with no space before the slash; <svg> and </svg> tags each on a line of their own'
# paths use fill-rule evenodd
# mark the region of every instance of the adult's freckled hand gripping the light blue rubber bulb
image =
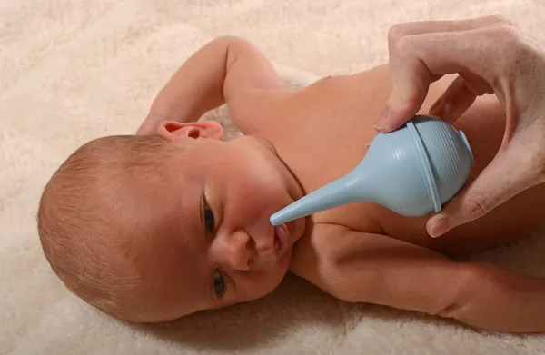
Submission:
<svg viewBox="0 0 545 355">
<path fill-rule="evenodd" d="M 377 121 L 387 133 L 418 113 L 429 86 L 458 74 L 430 113 L 455 119 L 477 96 L 496 94 L 507 114 L 499 153 L 477 179 L 431 217 L 432 237 L 480 218 L 545 182 L 545 50 L 500 16 L 394 25 L 388 35 L 391 96 Z"/>
</svg>

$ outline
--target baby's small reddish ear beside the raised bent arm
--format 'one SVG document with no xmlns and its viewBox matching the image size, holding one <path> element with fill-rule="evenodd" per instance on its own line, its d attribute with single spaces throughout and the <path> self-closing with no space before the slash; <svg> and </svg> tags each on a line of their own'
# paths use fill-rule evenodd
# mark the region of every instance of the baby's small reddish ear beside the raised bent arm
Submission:
<svg viewBox="0 0 545 355">
<path fill-rule="evenodd" d="M 214 121 L 179 123 L 167 121 L 159 126 L 159 134 L 169 142 L 180 142 L 186 139 L 210 138 L 221 140 L 223 127 Z"/>
</svg>

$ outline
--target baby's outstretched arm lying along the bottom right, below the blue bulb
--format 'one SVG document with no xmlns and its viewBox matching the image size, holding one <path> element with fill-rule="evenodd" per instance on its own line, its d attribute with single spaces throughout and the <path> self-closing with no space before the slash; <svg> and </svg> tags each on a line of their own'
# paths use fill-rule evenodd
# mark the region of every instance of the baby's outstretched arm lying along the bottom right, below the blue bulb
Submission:
<svg viewBox="0 0 545 355">
<path fill-rule="evenodd" d="M 422 311 L 489 330 L 545 331 L 543 279 L 451 261 L 408 242 L 339 226 L 316 226 L 309 243 L 298 247 L 292 271 L 343 301 Z"/>
</svg>

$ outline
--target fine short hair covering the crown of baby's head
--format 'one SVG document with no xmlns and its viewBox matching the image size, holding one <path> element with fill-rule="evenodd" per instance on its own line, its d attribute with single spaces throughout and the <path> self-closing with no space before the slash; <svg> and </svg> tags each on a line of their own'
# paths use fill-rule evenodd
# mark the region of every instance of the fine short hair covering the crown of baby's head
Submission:
<svg viewBox="0 0 545 355">
<path fill-rule="evenodd" d="M 126 246 L 144 223 L 145 189 L 162 183 L 178 150 L 159 135 L 95 139 L 64 161 L 41 196 L 38 233 L 53 271 L 70 291 L 117 318 L 138 321 L 124 311 L 139 281 Z"/>
</svg>

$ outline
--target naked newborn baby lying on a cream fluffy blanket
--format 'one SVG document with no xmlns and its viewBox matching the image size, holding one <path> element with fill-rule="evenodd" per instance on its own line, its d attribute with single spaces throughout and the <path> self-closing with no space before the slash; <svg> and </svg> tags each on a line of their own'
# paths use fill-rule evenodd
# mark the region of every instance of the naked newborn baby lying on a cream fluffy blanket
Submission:
<svg viewBox="0 0 545 355">
<path fill-rule="evenodd" d="M 431 85 L 422 113 L 452 79 Z M 545 280 L 454 258 L 539 227 L 545 184 L 439 239 L 426 217 L 372 203 L 269 222 L 362 161 L 390 90 L 386 66 L 285 88 L 252 44 L 213 40 L 164 86 L 137 135 L 86 143 L 54 173 L 38 212 L 45 256 L 84 301 L 136 322 L 255 300 L 292 271 L 343 301 L 544 331 Z M 243 136 L 225 140 L 218 123 L 198 121 L 222 104 Z M 451 124 L 471 143 L 472 180 L 500 148 L 504 113 L 483 96 Z"/>
</svg>

